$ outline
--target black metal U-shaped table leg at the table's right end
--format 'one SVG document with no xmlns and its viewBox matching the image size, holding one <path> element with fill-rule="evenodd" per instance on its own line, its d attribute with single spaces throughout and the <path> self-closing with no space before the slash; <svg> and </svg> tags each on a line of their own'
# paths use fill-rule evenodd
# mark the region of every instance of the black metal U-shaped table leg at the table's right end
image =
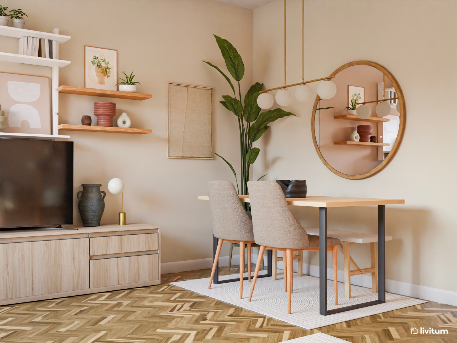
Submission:
<svg viewBox="0 0 457 343">
<path fill-rule="evenodd" d="M 323 316 L 386 302 L 386 205 L 377 207 L 378 300 L 327 310 L 327 208 L 319 208 L 319 313 Z"/>
</svg>

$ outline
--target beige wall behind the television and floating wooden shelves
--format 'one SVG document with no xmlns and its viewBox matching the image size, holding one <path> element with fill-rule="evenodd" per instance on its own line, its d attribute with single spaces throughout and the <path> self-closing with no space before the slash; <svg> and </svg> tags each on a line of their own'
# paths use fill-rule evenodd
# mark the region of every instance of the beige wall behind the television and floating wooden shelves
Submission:
<svg viewBox="0 0 457 343">
<path fill-rule="evenodd" d="M 117 49 L 119 73 L 134 70 L 142 84 L 138 91 L 152 94 L 152 99 L 141 102 L 115 100 L 117 113 L 127 112 L 132 127 L 150 128 L 152 134 L 70 132 L 74 193 L 82 183 L 101 183 L 107 192 L 108 181 L 120 177 L 125 182 L 128 222 L 162 226 L 162 262 L 211 257 L 209 204 L 198 201 L 197 195 L 206 193 L 207 180 L 232 180 L 232 172 L 219 158 L 166 158 L 167 82 L 214 87 L 214 150 L 238 169 L 238 126 L 219 103 L 231 89 L 201 60 L 226 70 L 213 34 L 228 39 L 244 59 L 246 92 L 252 84 L 252 11 L 210 0 L 15 0 L 2 5 L 25 11 L 28 29 L 51 32 L 57 27 L 71 36 L 60 46 L 60 58 L 71 61 L 60 70 L 60 85 L 84 86 L 84 45 L 91 45 Z M 17 53 L 17 40 L 1 39 L 9 52 Z M 0 70 L 50 75 L 51 69 L 4 63 Z M 91 114 L 93 102 L 103 100 L 65 94 L 59 98 L 60 122 L 74 124 Z M 106 195 L 102 223 L 117 222 L 120 201 L 120 196 Z M 74 221 L 80 223 L 76 195 Z"/>
</svg>

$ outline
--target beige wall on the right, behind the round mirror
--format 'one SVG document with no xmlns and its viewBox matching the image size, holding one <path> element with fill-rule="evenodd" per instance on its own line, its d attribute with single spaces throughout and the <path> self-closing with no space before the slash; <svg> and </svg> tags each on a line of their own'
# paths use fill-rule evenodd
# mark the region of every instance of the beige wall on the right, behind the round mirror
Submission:
<svg viewBox="0 0 457 343">
<path fill-rule="evenodd" d="M 287 81 L 301 80 L 301 5 L 287 3 Z M 399 81 L 407 109 L 403 142 L 381 173 L 346 180 L 319 160 L 311 137 L 312 103 L 286 109 L 298 118 L 271 125 L 258 142 L 254 178 L 306 179 L 308 194 L 404 198 L 387 207 L 387 278 L 457 291 L 456 113 L 457 2 L 413 0 L 306 0 L 305 80 L 329 75 L 347 62 L 366 59 Z M 254 10 L 254 80 L 282 84 L 282 1 Z M 424 24 L 426 23 L 426 24 Z M 316 85 L 314 85 L 315 87 Z M 339 90 L 346 92 L 347 90 Z M 293 122 L 293 123 L 292 123 Z M 376 232 L 375 207 L 330 209 L 330 228 Z M 317 209 L 294 209 L 306 225 L 318 225 Z M 367 267 L 366 247 L 354 247 Z M 305 262 L 318 264 L 316 253 Z"/>
</svg>

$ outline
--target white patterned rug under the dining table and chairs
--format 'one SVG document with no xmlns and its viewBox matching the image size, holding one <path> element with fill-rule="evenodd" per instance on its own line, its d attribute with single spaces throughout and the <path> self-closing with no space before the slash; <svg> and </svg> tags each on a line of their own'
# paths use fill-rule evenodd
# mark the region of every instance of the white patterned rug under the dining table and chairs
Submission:
<svg viewBox="0 0 457 343">
<path fill-rule="evenodd" d="M 266 273 L 266 271 L 261 271 L 259 274 L 262 272 Z M 238 275 L 224 275 L 219 279 L 232 279 Z M 244 275 L 247 276 L 247 273 Z M 295 274 L 293 278 L 292 314 L 289 315 L 287 314 L 287 293 L 284 292 L 282 275 L 279 275 L 276 281 L 271 280 L 271 277 L 257 279 L 252 301 L 250 302 L 248 298 L 252 283 L 248 283 L 247 280 L 243 283 L 243 299 L 239 299 L 238 281 L 227 284 L 213 284 L 211 289 L 208 289 L 208 282 L 209 278 L 172 282 L 171 284 L 308 330 L 427 302 L 403 295 L 386 293 L 386 302 L 384 304 L 321 316 L 319 314 L 319 278 L 308 275 L 298 277 Z M 377 300 L 377 293 L 372 293 L 371 289 L 355 285 L 351 286 L 351 295 L 353 297 L 345 299 L 344 284 L 339 283 L 338 306 L 335 306 L 333 281 L 328 280 L 327 287 L 328 310 Z"/>
</svg>

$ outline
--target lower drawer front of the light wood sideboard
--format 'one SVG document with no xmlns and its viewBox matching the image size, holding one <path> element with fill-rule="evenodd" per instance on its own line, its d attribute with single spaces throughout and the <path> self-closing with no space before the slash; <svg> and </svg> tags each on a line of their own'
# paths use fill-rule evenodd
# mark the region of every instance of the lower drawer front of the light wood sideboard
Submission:
<svg viewBox="0 0 457 343">
<path fill-rule="evenodd" d="M 159 255 L 104 258 L 90 261 L 90 288 L 159 279 Z"/>
</svg>

